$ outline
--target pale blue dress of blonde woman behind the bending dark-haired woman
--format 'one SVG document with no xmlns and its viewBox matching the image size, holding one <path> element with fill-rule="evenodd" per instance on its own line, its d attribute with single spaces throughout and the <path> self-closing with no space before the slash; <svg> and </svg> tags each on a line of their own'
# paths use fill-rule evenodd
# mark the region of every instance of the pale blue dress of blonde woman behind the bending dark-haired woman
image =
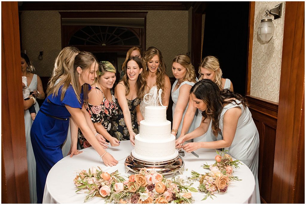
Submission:
<svg viewBox="0 0 306 205">
<path fill-rule="evenodd" d="M 225 79 L 225 84 L 223 89 L 230 89 L 230 79 Z M 201 121 L 202 121 L 202 111 L 198 110 L 198 114 L 196 115 L 196 121 L 195 121 L 195 129 L 200 126 Z M 193 142 L 211 142 L 211 141 L 216 141 L 216 140 L 222 140 L 222 134 L 221 131 L 218 131 L 218 137 L 214 135 L 211 129 L 211 124 L 212 121 L 210 122 L 208 126 L 208 130 L 206 133 L 201 135 L 200 137 L 196 137 L 193 139 Z"/>
</svg>

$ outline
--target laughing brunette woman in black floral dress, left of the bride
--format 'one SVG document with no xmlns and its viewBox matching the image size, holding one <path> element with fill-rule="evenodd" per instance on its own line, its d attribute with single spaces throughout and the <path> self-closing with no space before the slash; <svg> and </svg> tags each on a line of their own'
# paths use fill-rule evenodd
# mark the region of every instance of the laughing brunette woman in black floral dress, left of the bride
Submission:
<svg viewBox="0 0 306 205">
<path fill-rule="evenodd" d="M 125 74 L 115 88 L 118 101 L 118 115 L 112 120 L 112 130 L 120 141 L 130 140 L 134 146 L 134 138 L 139 133 L 136 107 L 144 96 L 146 81 L 141 75 L 142 61 L 131 57 L 126 62 Z"/>
</svg>

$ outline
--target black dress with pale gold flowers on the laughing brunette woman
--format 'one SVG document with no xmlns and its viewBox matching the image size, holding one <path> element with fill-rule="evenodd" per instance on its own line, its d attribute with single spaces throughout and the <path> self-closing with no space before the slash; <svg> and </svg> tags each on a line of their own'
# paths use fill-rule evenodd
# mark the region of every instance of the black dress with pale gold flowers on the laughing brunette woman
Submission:
<svg viewBox="0 0 306 205">
<path fill-rule="evenodd" d="M 137 124 L 136 107 L 140 103 L 140 99 L 139 98 L 135 98 L 134 100 L 126 99 L 126 101 L 128 103 L 129 110 L 131 113 L 131 122 L 132 122 L 133 131 L 137 135 L 139 133 L 139 129 Z M 129 140 L 130 139 L 129 131 L 128 128 L 126 127 L 123 117 L 123 112 L 120 105 L 118 104 L 117 99 L 116 103 L 118 106 L 118 112 L 116 115 L 113 115 L 112 126 L 111 126 L 113 136 L 117 138 L 119 141 Z"/>
</svg>

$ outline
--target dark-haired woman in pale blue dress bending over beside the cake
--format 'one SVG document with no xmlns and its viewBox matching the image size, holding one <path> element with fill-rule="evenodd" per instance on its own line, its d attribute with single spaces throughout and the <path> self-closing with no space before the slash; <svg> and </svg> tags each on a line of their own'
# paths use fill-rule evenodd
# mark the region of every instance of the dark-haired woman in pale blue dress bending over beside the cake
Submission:
<svg viewBox="0 0 306 205">
<path fill-rule="evenodd" d="M 256 182 L 257 203 L 260 203 L 257 176 L 259 134 L 246 99 L 230 89 L 221 90 L 220 86 L 209 79 L 197 82 L 191 88 L 190 95 L 193 106 L 203 111 L 203 122 L 191 133 L 180 136 L 175 142 L 176 146 L 178 148 L 182 146 L 187 153 L 199 148 L 228 150 L 228 154 L 241 160 L 251 169 Z M 214 135 L 217 136 L 218 130 L 221 129 L 223 139 L 182 145 L 186 140 L 207 132 L 209 121 L 212 122 Z"/>
</svg>

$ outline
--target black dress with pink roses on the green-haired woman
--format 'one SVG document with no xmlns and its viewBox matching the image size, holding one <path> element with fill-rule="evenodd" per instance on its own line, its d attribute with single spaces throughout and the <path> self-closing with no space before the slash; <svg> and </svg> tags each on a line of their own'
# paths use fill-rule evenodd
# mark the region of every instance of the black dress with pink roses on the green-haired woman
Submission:
<svg viewBox="0 0 306 205">
<path fill-rule="evenodd" d="M 98 89 L 98 87 L 92 87 L 91 89 Z M 94 92 L 94 91 L 91 91 Z M 97 92 L 102 92 L 97 91 Z M 112 95 L 112 102 L 108 101 L 107 98 L 104 96 L 103 92 L 103 101 L 100 105 L 92 105 L 88 103 L 88 106 L 86 107 L 86 110 L 89 112 L 89 115 L 91 117 L 92 123 L 101 123 L 105 130 L 111 134 L 111 118 L 118 112 L 118 106 L 116 104 L 116 99 L 114 96 L 114 92 L 112 89 L 110 89 L 110 93 Z M 80 142 L 81 149 L 90 147 L 91 145 L 89 142 L 85 139 L 84 135 L 82 134 L 81 130 L 78 131 L 78 138 Z"/>
</svg>

